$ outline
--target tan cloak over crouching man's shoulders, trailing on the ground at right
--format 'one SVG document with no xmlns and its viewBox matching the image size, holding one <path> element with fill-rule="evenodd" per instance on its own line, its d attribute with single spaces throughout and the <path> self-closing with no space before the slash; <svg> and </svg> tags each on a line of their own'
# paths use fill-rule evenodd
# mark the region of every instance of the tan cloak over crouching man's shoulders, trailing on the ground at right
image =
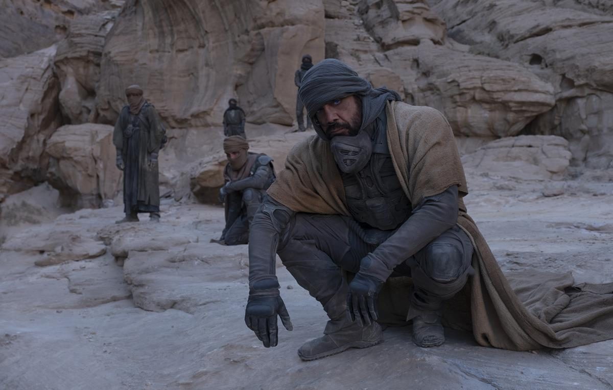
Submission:
<svg viewBox="0 0 613 390">
<path fill-rule="evenodd" d="M 468 193 L 454 135 L 440 112 L 392 102 L 386 114 L 390 153 L 411 204 L 451 185 L 459 186 L 460 196 Z M 295 212 L 349 215 L 329 144 L 318 136 L 295 145 L 268 194 Z M 613 338 L 613 283 L 574 285 L 570 273 L 538 271 L 507 279 L 462 201 L 458 224 L 476 248 L 475 274 L 465 290 L 479 344 L 531 350 Z"/>
</svg>

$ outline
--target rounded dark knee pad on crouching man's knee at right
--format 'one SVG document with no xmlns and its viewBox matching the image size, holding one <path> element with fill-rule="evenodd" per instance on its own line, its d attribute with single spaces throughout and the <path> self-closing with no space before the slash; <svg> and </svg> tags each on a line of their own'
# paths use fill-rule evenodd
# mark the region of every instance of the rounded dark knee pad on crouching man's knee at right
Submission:
<svg viewBox="0 0 613 390">
<path fill-rule="evenodd" d="M 436 282 L 447 283 L 459 278 L 465 271 L 461 248 L 448 243 L 433 243 L 425 252 L 425 273 Z"/>
</svg>

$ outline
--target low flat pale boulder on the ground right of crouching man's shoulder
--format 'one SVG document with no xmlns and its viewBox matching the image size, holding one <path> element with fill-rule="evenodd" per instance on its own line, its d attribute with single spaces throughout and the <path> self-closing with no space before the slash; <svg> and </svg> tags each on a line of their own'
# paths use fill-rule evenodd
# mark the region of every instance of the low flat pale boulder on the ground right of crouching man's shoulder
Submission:
<svg viewBox="0 0 613 390">
<path fill-rule="evenodd" d="M 517 136 L 489 142 L 462 156 L 467 171 L 520 180 L 561 180 L 569 166 L 568 141 L 558 136 Z"/>
</svg>

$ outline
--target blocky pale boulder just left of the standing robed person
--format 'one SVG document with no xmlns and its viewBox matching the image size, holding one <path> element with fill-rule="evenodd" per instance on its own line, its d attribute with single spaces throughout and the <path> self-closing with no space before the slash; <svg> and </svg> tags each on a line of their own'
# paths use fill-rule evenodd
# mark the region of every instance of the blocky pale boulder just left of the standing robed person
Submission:
<svg viewBox="0 0 613 390">
<path fill-rule="evenodd" d="M 47 142 L 51 156 L 48 180 L 73 207 L 99 207 L 121 189 L 121 171 L 115 166 L 113 127 L 65 125 Z"/>
</svg>

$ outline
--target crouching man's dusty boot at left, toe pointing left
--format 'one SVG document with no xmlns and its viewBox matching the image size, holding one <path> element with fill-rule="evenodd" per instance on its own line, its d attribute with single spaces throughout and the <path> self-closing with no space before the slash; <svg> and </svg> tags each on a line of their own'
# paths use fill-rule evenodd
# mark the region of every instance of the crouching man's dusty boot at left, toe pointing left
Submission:
<svg viewBox="0 0 613 390">
<path fill-rule="evenodd" d="M 298 350 L 300 359 L 309 361 L 336 355 L 349 348 L 368 348 L 383 341 L 381 326 L 373 322 L 361 326 L 352 323 L 346 328 L 306 342 Z"/>
</svg>

